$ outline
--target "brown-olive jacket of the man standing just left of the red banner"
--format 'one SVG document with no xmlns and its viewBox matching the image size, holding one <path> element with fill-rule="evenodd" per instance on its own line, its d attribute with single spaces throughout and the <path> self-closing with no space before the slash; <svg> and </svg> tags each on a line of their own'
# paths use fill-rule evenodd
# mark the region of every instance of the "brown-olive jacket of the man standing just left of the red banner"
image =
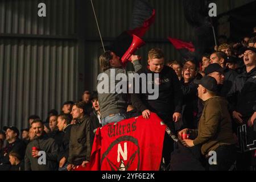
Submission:
<svg viewBox="0 0 256 182">
<path fill-rule="evenodd" d="M 68 163 L 80 165 L 83 161 L 90 160 L 92 150 L 92 127 L 88 115 L 77 119 L 72 126 L 69 140 Z"/>
</svg>

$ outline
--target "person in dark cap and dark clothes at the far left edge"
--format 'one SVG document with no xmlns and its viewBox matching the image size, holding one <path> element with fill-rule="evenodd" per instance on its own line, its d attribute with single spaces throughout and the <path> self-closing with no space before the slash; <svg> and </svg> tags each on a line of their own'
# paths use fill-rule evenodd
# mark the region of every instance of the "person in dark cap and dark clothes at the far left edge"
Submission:
<svg viewBox="0 0 256 182">
<path fill-rule="evenodd" d="M 19 139 L 19 130 L 15 126 L 4 126 L 3 130 L 6 134 L 7 146 L 4 148 L 3 158 L 0 159 L 0 171 L 10 169 L 9 154 L 11 151 L 17 152 L 21 158 L 24 158 L 25 146 Z"/>
</svg>

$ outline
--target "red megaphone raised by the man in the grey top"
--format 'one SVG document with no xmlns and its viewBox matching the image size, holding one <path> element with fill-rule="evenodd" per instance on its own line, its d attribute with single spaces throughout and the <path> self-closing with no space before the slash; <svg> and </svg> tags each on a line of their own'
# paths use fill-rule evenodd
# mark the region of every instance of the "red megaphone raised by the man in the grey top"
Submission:
<svg viewBox="0 0 256 182">
<path fill-rule="evenodd" d="M 122 64 L 125 65 L 129 61 L 131 55 L 133 55 L 140 47 L 144 46 L 144 44 L 145 42 L 141 38 L 133 35 L 133 42 L 131 42 L 131 46 L 121 58 Z"/>
</svg>

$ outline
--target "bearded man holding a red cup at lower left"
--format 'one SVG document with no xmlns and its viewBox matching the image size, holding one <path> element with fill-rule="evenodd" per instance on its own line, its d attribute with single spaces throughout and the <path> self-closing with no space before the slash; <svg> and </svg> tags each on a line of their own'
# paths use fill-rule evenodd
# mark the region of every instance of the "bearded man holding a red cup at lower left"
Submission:
<svg viewBox="0 0 256 182">
<path fill-rule="evenodd" d="M 35 133 L 35 138 L 27 145 L 24 159 L 25 171 L 56 171 L 59 146 L 44 132 L 44 125 L 40 119 L 35 119 L 31 123 L 31 128 Z M 42 151 L 46 156 L 41 156 Z M 46 163 L 40 164 L 39 157 L 43 157 Z"/>
</svg>

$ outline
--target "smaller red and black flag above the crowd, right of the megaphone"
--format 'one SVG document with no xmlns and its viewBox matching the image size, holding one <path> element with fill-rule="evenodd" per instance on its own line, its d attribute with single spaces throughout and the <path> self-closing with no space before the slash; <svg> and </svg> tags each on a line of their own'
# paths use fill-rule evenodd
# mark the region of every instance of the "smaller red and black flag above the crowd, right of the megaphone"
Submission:
<svg viewBox="0 0 256 182">
<path fill-rule="evenodd" d="M 195 60 L 195 47 L 191 42 L 168 37 L 168 40 L 180 52 L 184 60 Z"/>
</svg>

